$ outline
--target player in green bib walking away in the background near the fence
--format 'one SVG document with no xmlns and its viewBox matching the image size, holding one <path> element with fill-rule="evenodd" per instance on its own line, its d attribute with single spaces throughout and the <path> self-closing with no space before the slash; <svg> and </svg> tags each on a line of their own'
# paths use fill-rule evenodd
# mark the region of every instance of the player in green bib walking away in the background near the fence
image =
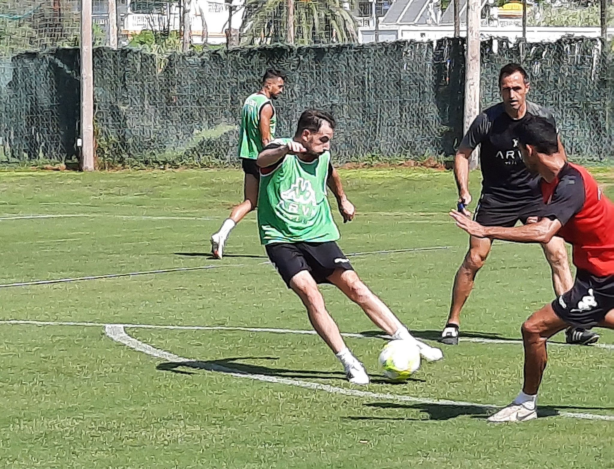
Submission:
<svg viewBox="0 0 614 469">
<path fill-rule="evenodd" d="M 244 200 L 236 205 L 222 223 L 219 231 L 211 235 L 211 254 L 222 259 L 228 235 L 247 213 L 256 208 L 260 173 L 256 166 L 258 153 L 274 139 L 277 116 L 273 100 L 284 91 L 286 75 L 276 69 L 268 69 L 262 78 L 262 89 L 245 100 L 241 110 L 238 156 L 245 173 Z"/>
</svg>

